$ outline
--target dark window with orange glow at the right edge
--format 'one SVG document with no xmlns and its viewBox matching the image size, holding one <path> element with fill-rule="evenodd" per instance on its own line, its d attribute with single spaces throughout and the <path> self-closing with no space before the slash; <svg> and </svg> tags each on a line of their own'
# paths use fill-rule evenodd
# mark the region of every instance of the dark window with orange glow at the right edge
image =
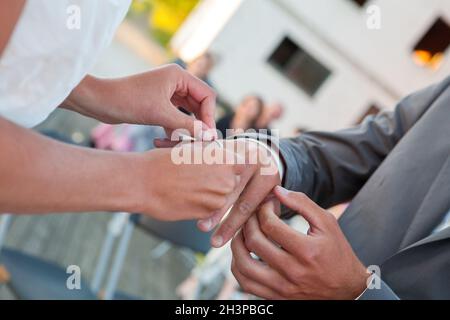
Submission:
<svg viewBox="0 0 450 320">
<path fill-rule="evenodd" d="M 413 60 L 421 67 L 439 69 L 450 46 L 450 26 L 437 19 L 413 49 Z"/>
</svg>

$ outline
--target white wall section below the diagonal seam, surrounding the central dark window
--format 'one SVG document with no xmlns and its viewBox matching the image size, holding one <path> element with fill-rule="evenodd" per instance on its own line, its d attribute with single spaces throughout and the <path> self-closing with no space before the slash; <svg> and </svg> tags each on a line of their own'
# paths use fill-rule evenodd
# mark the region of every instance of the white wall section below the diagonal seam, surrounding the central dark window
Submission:
<svg viewBox="0 0 450 320">
<path fill-rule="evenodd" d="M 267 63 L 285 35 L 333 72 L 314 98 Z M 221 55 L 212 75 L 219 92 L 234 104 L 248 93 L 259 93 L 268 101 L 284 102 L 288 109 L 277 127 L 285 135 L 299 126 L 321 130 L 346 127 L 371 103 L 392 104 L 358 70 L 330 52 L 314 34 L 286 16 L 270 0 L 245 0 L 212 43 L 211 50 Z"/>
</svg>

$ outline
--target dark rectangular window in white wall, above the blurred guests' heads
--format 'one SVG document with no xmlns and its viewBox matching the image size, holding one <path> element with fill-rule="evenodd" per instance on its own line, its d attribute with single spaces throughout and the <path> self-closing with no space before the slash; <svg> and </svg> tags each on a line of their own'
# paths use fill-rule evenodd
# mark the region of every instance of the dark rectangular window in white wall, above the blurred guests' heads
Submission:
<svg viewBox="0 0 450 320">
<path fill-rule="evenodd" d="M 331 71 L 289 38 L 284 38 L 268 59 L 285 77 L 314 96 Z"/>
</svg>

